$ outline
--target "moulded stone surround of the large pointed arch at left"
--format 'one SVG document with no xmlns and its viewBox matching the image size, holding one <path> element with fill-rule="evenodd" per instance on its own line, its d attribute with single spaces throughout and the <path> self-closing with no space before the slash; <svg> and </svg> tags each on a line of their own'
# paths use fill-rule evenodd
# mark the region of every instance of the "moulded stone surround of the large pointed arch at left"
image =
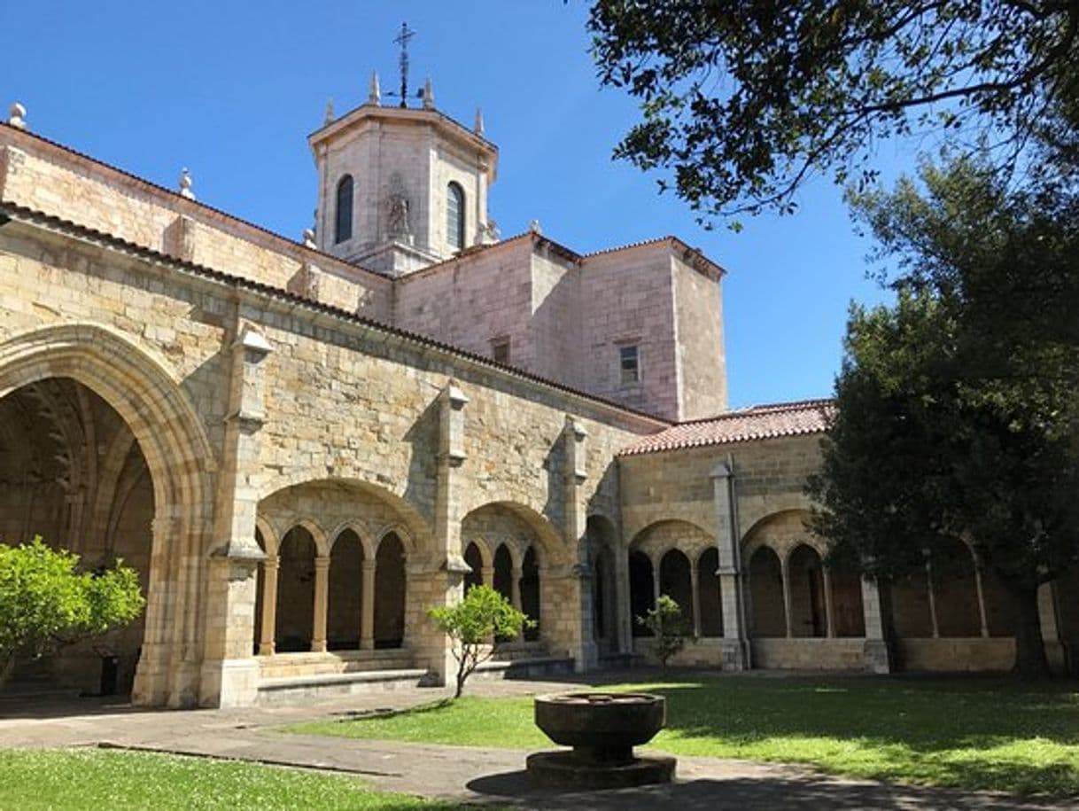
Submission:
<svg viewBox="0 0 1079 811">
<path fill-rule="evenodd" d="M 0 342 L 0 397 L 49 378 L 70 378 L 97 393 L 135 435 L 153 483 L 149 602 L 133 701 L 193 705 L 200 665 L 201 560 L 210 540 L 216 456 L 197 411 L 169 367 L 111 327 L 46 326 Z M 170 595 L 170 596 L 169 596 Z M 182 660 L 182 661 L 181 661 Z"/>
</svg>

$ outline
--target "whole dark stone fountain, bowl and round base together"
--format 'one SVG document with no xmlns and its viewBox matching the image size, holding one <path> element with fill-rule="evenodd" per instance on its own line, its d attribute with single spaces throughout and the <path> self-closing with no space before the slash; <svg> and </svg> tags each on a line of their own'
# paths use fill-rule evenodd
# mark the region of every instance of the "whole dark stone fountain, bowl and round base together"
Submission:
<svg viewBox="0 0 1079 811">
<path fill-rule="evenodd" d="M 529 755 L 533 782 L 557 788 L 620 788 L 667 783 L 672 757 L 636 757 L 633 747 L 663 729 L 667 705 L 660 695 L 576 692 L 535 699 L 535 724 L 555 743 L 572 751 Z"/>
</svg>

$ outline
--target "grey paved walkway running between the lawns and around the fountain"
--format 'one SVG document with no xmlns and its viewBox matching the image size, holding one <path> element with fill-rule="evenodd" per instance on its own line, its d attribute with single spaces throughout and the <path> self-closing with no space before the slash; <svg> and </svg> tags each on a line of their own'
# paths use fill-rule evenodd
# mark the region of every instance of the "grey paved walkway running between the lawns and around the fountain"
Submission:
<svg viewBox="0 0 1079 811">
<path fill-rule="evenodd" d="M 473 694 L 508 695 L 566 689 L 565 682 L 477 681 Z M 1000 795 L 893 786 L 823 776 L 792 766 L 679 757 L 678 781 L 665 786 L 592 793 L 533 789 L 517 749 L 353 741 L 283 734 L 282 724 L 401 708 L 447 694 L 408 688 L 301 706 L 141 711 L 106 700 L 21 704 L 0 700 L 0 746 L 108 744 L 187 755 L 237 758 L 363 775 L 379 788 L 469 805 L 528 809 L 894 809 L 933 811 L 1079 808 Z"/>
</svg>

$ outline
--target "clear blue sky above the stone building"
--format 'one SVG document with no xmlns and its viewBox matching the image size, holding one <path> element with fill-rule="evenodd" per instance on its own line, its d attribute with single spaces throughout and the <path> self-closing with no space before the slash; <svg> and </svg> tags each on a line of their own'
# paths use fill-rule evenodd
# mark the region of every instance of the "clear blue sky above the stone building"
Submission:
<svg viewBox="0 0 1079 811">
<path fill-rule="evenodd" d="M 612 162 L 637 111 L 599 89 L 586 18 L 577 0 L 3 2 L 0 104 L 23 102 L 33 132 L 153 183 L 175 188 L 188 166 L 200 200 L 295 239 L 315 205 L 306 135 L 328 97 L 338 113 L 363 103 L 372 69 L 396 85 L 408 21 L 412 86 L 429 75 L 436 106 L 465 124 L 483 110 L 504 235 L 538 219 L 587 253 L 675 234 L 728 270 L 730 405 L 829 395 L 848 302 L 882 298 L 839 190 L 821 178 L 793 217 L 702 230 L 655 177 Z"/>
</svg>

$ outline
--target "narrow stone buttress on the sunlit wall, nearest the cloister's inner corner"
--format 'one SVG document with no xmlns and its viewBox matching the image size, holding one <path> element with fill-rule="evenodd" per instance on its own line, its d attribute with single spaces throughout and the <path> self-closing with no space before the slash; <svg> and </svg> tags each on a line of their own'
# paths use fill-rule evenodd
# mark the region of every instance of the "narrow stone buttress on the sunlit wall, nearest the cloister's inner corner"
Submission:
<svg viewBox="0 0 1079 811">
<path fill-rule="evenodd" d="M 568 550 L 573 550 L 574 565 L 566 589 L 573 594 L 573 605 L 578 607 L 577 617 L 570 630 L 566 643 L 570 655 L 578 673 L 593 670 L 599 664 L 599 649 L 592 636 L 592 571 L 588 559 L 588 544 L 585 542 L 588 516 L 586 512 L 584 484 L 588 478 L 586 465 L 585 431 L 575 418 L 565 416 L 562 429 L 562 536 Z"/>
</svg>

